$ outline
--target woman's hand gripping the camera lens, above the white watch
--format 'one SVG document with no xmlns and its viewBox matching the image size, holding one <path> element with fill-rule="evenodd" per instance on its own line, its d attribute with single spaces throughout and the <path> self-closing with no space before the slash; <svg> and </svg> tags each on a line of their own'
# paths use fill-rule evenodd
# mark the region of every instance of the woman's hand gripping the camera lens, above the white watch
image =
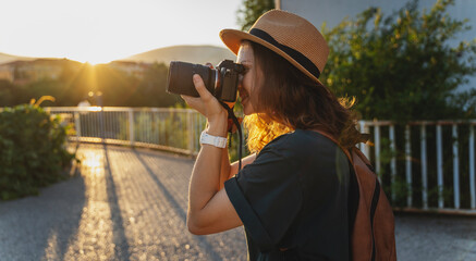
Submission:
<svg viewBox="0 0 476 261">
<path fill-rule="evenodd" d="M 228 113 L 220 102 L 208 91 L 198 74 L 193 76 L 193 82 L 200 97 L 181 96 L 185 102 L 207 117 L 208 123 L 227 123 Z"/>
</svg>

